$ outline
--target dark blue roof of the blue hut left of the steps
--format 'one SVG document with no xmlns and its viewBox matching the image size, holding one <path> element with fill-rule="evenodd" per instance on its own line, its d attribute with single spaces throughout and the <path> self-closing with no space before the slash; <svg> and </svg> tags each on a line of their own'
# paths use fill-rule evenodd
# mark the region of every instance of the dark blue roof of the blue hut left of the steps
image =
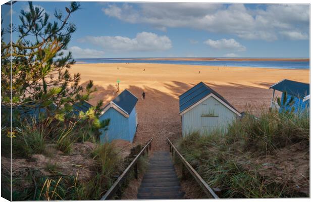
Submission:
<svg viewBox="0 0 313 202">
<path fill-rule="evenodd" d="M 115 99 L 113 99 L 101 112 L 101 115 L 108 111 L 111 107 L 120 112 L 123 116 L 129 117 L 138 102 L 138 98 L 129 90 L 124 90 Z"/>
</svg>

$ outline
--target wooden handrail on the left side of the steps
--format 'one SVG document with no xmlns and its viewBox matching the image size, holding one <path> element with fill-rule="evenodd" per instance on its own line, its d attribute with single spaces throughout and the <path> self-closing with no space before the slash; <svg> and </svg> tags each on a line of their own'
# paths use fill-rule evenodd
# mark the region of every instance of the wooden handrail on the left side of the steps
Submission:
<svg viewBox="0 0 313 202">
<path fill-rule="evenodd" d="M 105 195 L 102 196 L 101 200 L 107 200 L 110 199 L 113 194 L 116 192 L 118 185 L 124 180 L 124 178 L 127 176 L 128 172 L 130 171 L 130 169 L 135 166 L 135 177 L 138 177 L 138 171 L 137 171 L 137 160 L 139 159 L 139 157 L 141 155 L 144 154 L 144 150 L 147 150 L 148 153 L 148 146 L 149 146 L 149 150 L 151 150 L 151 141 L 152 141 L 153 137 L 150 139 L 150 141 L 148 141 L 148 143 L 141 149 L 141 151 L 139 152 L 139 154 L 136 156 L 136 158 L 129 164 L 129 166 L 124 170 L 124 172 L 118 177 L 118 179 L 114 182 L 114 184 L 110 187 L 110 189 L 106 192 Z"/>
</svg>

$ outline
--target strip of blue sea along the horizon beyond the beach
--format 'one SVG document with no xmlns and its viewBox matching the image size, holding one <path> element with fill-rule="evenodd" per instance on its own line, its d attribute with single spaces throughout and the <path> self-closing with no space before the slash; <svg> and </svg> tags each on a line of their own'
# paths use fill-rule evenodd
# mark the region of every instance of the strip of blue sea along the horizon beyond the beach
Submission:
<svg viewBox="0 0 313 202">
<path fill-rule="evenodd" d="M 185 61 L 185 60 L 153 60 L 143 58 L 80 58 L 75 59 L 78 63 L 151 63 L 151 64 L 177 64 L 177 65 L 206 65 L 225 67 L 254 67 L 254 68 L 274 68 L 274 69 L 309 69 L 309 61 Z"/>
</svg>

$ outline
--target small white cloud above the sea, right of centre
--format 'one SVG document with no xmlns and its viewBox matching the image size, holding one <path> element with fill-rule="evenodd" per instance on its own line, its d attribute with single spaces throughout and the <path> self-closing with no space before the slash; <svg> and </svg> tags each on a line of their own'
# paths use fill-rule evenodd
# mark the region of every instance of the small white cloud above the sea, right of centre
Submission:
<svg viewBox="0 0 313 202">
<path fill-rule="evenodd" d="M 220 40 L 207 39 L 204 43 L 215 49 L 234 49 L 235 51 L 246 51 L 246 47 L 233 38 L 222 38 Z"/>
</svg>

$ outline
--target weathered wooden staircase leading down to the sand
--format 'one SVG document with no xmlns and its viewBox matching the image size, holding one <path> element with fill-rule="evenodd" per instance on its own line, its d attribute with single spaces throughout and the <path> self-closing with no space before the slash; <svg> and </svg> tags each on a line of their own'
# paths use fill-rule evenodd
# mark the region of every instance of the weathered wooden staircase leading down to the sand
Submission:
<svg viewBox="0 0 313 202">
<path fill-rule="evenodd" d="M 179 179 L 168 151 L 154 151 L 149 168 L 138 189 L 138 199 L 184 198 Z"/>
</svg>

